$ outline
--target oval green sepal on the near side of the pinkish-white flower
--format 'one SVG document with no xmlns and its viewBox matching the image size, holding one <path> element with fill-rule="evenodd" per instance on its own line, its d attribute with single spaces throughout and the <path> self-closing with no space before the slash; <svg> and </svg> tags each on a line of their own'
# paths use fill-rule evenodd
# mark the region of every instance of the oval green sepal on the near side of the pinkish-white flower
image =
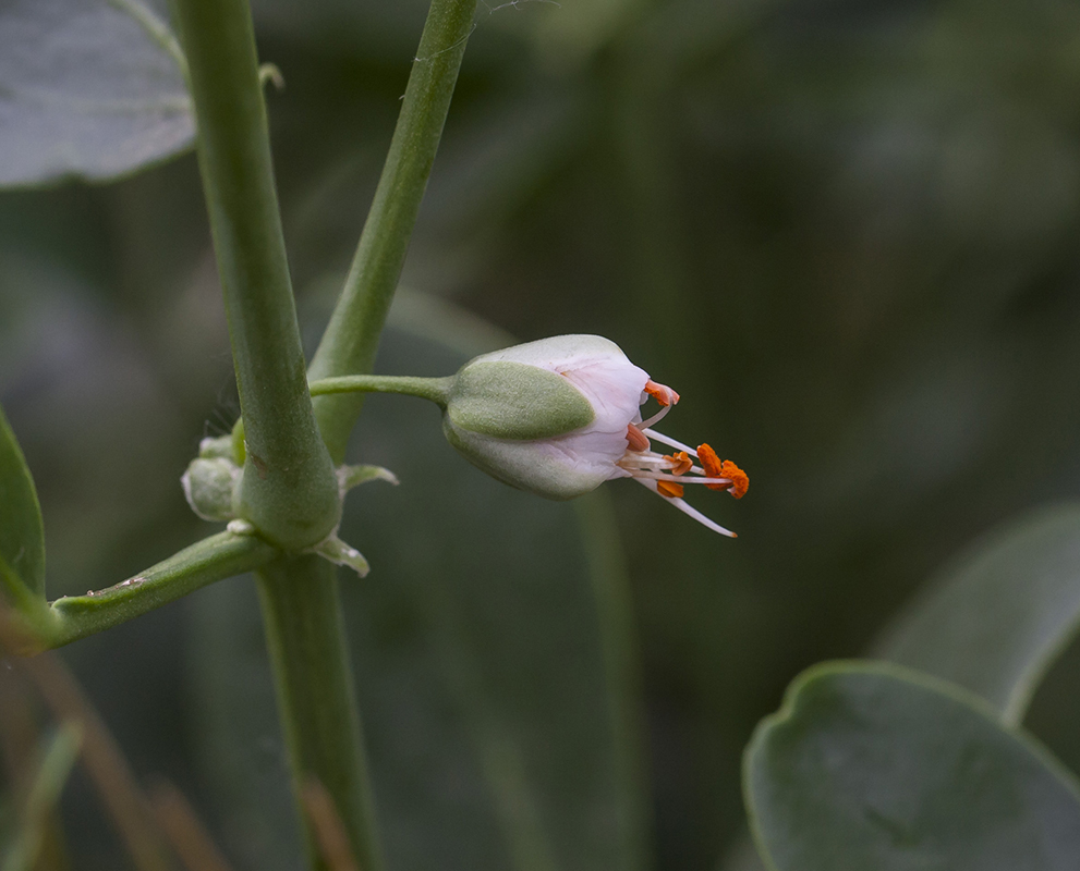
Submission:
<svg viewBox="0 0 1080 871">
<path fill-rule="evenodd" d="M 565 436 L 596 417 L 588 400 L 562 376 L 511 360 L 466 365 L 447 403 L 454 428 L 497 439 Z"/>
</svg>

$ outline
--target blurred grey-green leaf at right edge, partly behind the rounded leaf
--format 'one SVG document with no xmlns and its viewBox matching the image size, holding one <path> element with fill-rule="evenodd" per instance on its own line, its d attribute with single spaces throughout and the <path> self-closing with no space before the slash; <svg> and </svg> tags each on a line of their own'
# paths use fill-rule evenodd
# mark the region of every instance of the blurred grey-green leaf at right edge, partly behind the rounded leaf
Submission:
<svg viewBox="0 0 1080 871">
<path fill-rule="evenodd" d="M 1080 505 L 991 532 L 903 614 L 875 655 L 959 684 L 1009 724 L 1080 623 Z"/>
</svg>

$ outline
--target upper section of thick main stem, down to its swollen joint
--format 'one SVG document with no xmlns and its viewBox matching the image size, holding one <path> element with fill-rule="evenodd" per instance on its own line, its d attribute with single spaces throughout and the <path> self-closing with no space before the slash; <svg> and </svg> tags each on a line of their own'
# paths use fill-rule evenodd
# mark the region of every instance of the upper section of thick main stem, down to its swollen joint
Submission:
<svg viewBox="0 0 1080 871">
<path fill-rule="evenodd" d="M 307 393 L 246 0 L 174 0 L 247 441 L 241 515 L 303 550 L 341 507 Z"/>
</svg>

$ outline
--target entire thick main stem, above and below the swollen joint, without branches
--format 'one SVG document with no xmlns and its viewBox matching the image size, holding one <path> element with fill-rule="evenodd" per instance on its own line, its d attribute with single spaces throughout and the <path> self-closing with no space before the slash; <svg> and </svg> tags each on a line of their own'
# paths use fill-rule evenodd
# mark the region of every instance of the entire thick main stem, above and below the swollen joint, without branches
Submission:
<svg viewBox="0 0 1080 871">
<path fill-rule="evenodd" d="M 340 499 L 307 392 L 251 11 L 246 0 L 174 0 L 174 7 L 244 414 L 242 513 L 259 535 L 299 551 L 332 531 Z M 298 800 L 304 781 L 317 778 L 365 871 L 379 871 L 336 582 L 333 567 L 317 557 L 266 566 L 259 592 L 267 646 Z M 321 867 L 314 847 L 311 854 L 313 867 Z"/>
</svg>

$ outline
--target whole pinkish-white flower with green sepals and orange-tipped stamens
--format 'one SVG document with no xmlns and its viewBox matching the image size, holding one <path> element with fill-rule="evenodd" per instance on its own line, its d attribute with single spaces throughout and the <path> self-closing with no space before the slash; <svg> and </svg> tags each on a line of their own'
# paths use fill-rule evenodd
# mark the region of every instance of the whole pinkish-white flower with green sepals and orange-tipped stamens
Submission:
<svg viewBox="0 0 1080 871">
<path fill-rule="evenodd" d="M 659 410 L 642 420 L 653 397 Z M 749 486 L 730 461 L 652 429 L 679 394 L 652 381 L 614 342 L 559 335 L 485 354 L 458 373 L 444 416 L 447 438 L 501 481 L 549 499 L 572 499 L 612 478 L 631 477 L 726 536 L 682 500 L 684 483 L 740 498 Z M 652 441 L 676 449 L 652 450 Z M 701 466 L 690 457 L 697 458 Z"/>
</svg>

